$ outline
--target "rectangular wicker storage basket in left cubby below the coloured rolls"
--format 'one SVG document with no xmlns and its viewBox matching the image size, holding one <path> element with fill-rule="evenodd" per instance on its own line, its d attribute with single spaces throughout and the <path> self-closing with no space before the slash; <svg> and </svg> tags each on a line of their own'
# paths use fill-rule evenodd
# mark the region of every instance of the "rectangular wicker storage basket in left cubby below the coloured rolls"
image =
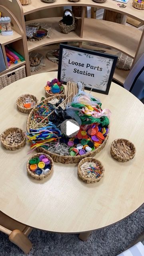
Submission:
<svg viewBox="0 0 144 256">
<path fill-rule="evenodd" d="M 21 66 L 20 68 L 16 68 L 6 74 L 0 76 L 0 90 L 3 89 L 5 86 L 20 80 L 26 77 L 26 70 L 25 66 Z"/>
</svg>

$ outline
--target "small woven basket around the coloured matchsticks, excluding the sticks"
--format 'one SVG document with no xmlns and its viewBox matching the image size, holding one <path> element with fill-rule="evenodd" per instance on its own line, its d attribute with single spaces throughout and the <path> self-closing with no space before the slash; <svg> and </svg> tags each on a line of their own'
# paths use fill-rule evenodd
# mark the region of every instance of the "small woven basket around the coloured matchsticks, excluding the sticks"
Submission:
<svg viewBox="0 0 144 256">
<path fill-rule="evenodd" d="M 94 162 L 94 163 L 96 163 L 96 164 L 98 164 L 99 165 L 99 167 L 100 167 L 100 170 L 101 170 L 101 175 L 100 175 L 100 177 L 98 177 L 98 178 L 86 178 L 86 177 L 84 177 L 83 175 L 82 175 L 82 172 L 81 172 L 81 168 L 80 168 L 80 166 L 82 165 L 82 164 L 84 164 L 85 162 Z M 99 182 L 100 180 L 101 180 L 101 178 L 104 176 L 104 166 L 103 166 L 103 164 L 102 164 L 102 162 L 100 162 L 98 159 L 96 159 L 96 158 L 92 158 L 92 157 L 86 157 L 86 158 L 84 158 L 84 159 L 82 159 L 80 162 L 79 162 L 79 164 L 78 164 L 78 176 L 80 177 L 80 179 L 83 181 L 83 182 L 86 182 L 86 183 L 95 183 L 95 182 Z"/>
</svg>

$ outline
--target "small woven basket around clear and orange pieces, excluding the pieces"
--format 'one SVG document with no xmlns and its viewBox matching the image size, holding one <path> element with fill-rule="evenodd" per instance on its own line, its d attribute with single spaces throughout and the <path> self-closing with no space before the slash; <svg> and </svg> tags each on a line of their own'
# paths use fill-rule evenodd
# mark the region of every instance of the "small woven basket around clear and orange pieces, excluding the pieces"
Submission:
<svg viewBox="0 0 144 256">
<path fill-rule="evenodd" d="M 33 108 L 24 108 L 24 104 L 26 103 L 25 100 L 28 97 L 31 98 L 34 102 L 36 102 L 36 105 L 38 104 L 38 99 L 36 98 L 36 96 L 32 94 L 23 94 L 20 97 L 18 97 L 18 99 L 16 100 L 16 105 L 18 107 L 18 110 L 26 114 L 30 113 L 30 111 L 33 109 Z"/>
</svg>

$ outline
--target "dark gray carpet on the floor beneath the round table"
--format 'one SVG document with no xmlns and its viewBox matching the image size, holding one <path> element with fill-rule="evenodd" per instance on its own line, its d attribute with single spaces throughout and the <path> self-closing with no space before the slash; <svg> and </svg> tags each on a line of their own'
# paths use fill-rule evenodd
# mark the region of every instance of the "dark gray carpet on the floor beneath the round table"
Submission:
<svg viewBox="0 0 144 256">
<path fill-rule="evenodd" d="M 29 256 L 116 256 L 144 232 L 144 205 L 117 224 L 92 232 L 87 242 L 78 234 L 55 234 L 33 230 Z M 0 233 L 0 256 L 24 256 L 8 237 Z"/>
</svg>

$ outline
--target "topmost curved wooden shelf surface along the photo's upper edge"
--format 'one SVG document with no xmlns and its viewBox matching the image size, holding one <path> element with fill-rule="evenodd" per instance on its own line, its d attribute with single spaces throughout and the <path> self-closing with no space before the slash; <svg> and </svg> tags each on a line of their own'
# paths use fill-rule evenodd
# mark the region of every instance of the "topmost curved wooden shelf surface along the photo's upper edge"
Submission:
<svg viewBox="0 0 144 256">
<path fill-rule="evenodd" d="M 132 0 L 129 0 L 129 2 L 126 4 L 126 8 L 120 8 L 117 4 L 118 2 L 112 0 L 106 0 L 106 2 L 103 4 L 95 3 L 92 0 L 80 0 L 76 3 L 68 2 L 67 0 L 56 0 L 56 2 L 51 4 L 42 2 L 40 0 L 32 0 L 30 4 L 23 5 L 22 8 L 24 11 L 24 15 L 26 15 L 46 8 L 49 9 L 60 6 L 90 6 L 99 9 L 101 8 L 106 10 L 112 10 L 115 12 L 128 15 L 129 17 L 136 18 L 137 20 L 144 21 L 144 13 L 141 10 L 132 7 Z"/>
</svg>

